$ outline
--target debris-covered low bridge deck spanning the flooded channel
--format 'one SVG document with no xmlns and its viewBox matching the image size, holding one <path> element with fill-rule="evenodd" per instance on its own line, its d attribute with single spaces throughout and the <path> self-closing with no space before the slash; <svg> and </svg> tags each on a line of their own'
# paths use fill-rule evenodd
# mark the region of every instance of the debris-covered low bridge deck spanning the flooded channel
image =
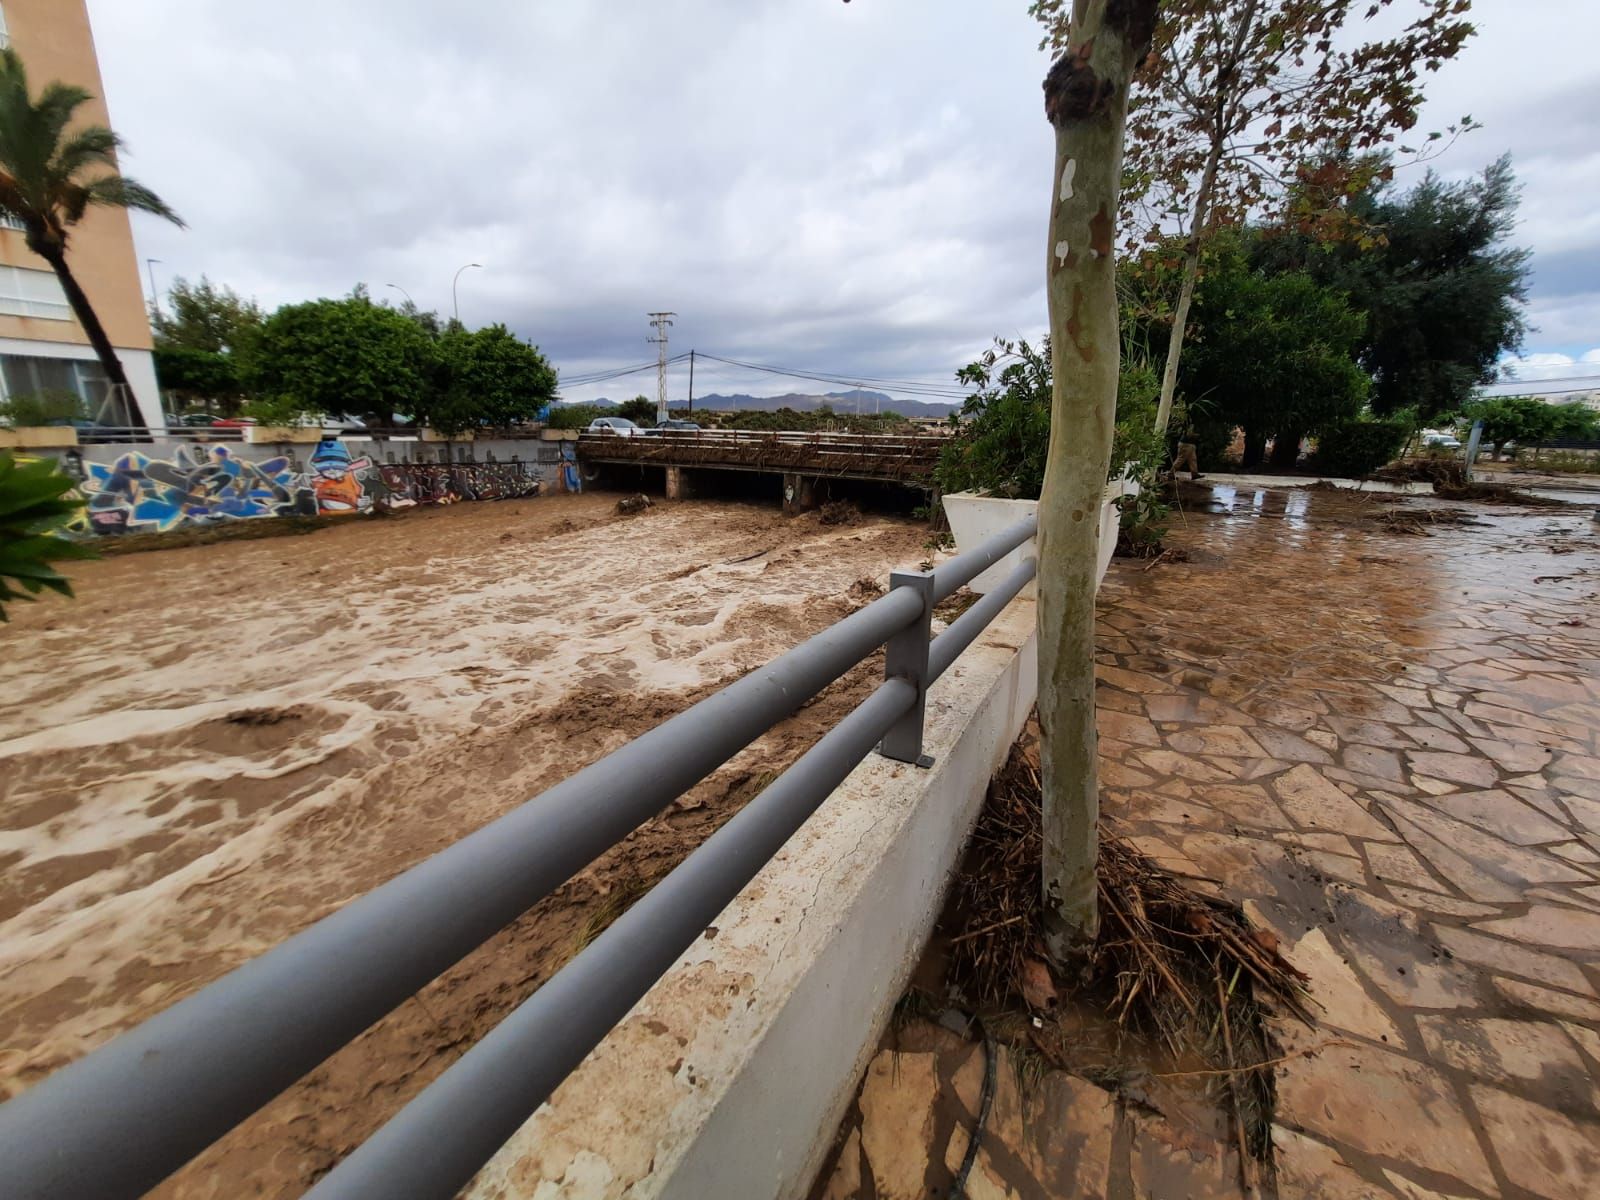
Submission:
<svg viewBox="0 0 1600 1200">
<path fill-rule="evenodd" d="M 667 429 L 642 437 L 586 432 L 578 438 L 578 456 L 586 462 L 797 472 L 933 486 L 933 469 L 946 443 L 947 438 L 938 434 Z"/>
</svg>

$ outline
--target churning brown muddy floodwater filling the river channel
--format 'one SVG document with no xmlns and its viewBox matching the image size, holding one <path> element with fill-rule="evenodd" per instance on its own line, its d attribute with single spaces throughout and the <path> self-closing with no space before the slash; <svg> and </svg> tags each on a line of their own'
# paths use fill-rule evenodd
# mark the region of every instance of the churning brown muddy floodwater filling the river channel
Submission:
<svg viewBox="0 0 1600 1200">
<path fill-rule="evenodd" d="M 18 605 L 0 627 L 0 1094 L 837 621 L 926 554 L 926 526 L 894 518 L 824 526 L 717 502 L 618 517 L 614 504 L 464 504 L 125 555 L 75 566 L 77 600 Z M 880 670 L 846 675 L 157 1194 L 299 1195 Z"/>
</svg>

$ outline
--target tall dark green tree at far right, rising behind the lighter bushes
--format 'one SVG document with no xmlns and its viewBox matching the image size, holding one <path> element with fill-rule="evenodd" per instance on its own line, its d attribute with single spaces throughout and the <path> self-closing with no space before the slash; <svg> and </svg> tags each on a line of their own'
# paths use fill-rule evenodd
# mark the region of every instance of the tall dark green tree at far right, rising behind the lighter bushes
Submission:
<svg viewBox="0 0 1600 1200">
<path fill-rule="evenodd" d="M 1414 408 L 1422 421 L 1454 413 L 1526 333 L 1530 253 L 1509 243 L 1517 179 L 1502 157 L 1477 179 L 1429 173 L 1408 192 L 1362 192 L 1350 213 L 1370 245 L 1323 242 L 1293 227 L 1261 242 L 1269 266 L 1306 269 L 1366 314 L 1362 365 L 1373 410 Z"/>
</svg>

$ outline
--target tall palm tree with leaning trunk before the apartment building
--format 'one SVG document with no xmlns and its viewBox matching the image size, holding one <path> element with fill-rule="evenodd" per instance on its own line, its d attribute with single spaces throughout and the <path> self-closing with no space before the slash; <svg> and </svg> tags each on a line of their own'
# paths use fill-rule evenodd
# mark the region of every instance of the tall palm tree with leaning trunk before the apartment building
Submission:
<svg viewBox="0 0 1600 1200">
<path fill-rule="evenodd" d="M 46 83 L 38 99 L 30 98 L 22 59 L 11 48 L 0 50 L 0 213 L 22 224 L 27 248 L 56 272 L 125 410 L 123 421 L 142 427 L 110 338 L 67 267 L 67 230 L 94 205 L 138 208 L 176 226 L 182 221 L 149 187 L 118 174 L 122 138 L 104 125 L 67 128 L 88 99 L 83 88 L 61 82 Z"/>
</svg>

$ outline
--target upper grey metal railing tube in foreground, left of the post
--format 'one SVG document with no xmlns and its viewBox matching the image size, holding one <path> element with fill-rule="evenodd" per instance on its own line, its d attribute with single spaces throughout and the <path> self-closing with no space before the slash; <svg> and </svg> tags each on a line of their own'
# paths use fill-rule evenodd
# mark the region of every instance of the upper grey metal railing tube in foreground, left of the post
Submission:
<svg viewBox="0 0 1600 1200">
<path fill-rule="evenodd" d="M 0 1104 L 0 1190 L 29 1200 L 144 1194 L 794 714 L 922 606 L 906 589 L 874 600 Z"/>
</svg>

